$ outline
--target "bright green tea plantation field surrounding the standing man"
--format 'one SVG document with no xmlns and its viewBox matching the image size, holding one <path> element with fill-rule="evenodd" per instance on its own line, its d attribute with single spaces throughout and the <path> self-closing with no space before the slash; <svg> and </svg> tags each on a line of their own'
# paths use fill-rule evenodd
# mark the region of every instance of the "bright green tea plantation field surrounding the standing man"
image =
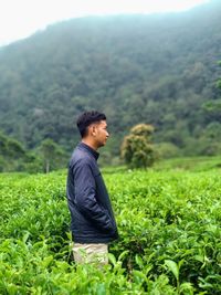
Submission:
<svg viewBox="0 0 221 295">
<path fill-rule="evenodd" d="M 0 294 L 221 294 L 221 170 L 104 170 L 120 239 L 73 263 L 66 171 L 0 175 Z"/>
</svg>

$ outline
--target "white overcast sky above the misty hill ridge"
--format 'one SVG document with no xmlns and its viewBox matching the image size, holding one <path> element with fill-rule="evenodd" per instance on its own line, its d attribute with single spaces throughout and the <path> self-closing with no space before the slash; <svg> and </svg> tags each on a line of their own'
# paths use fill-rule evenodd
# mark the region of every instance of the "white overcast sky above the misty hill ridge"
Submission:
<svg viewBox="0 0 221 295">
<path fill-rule="evenodd" d="M 171 12 L 210 0 L 0 0 L 0 45 L 27 38 L 48 24 L 85 17 Z"/>
</svg>

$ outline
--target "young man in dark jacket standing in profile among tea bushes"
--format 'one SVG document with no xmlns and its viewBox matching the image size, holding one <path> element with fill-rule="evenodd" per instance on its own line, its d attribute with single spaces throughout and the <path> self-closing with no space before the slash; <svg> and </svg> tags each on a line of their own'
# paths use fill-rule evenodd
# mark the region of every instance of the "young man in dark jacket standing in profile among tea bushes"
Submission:
<svg viewBox="0 0 221 295">
<path fill-rule="evenodd" d="M 67 202 L 71 212 L 73 252 L 76 263 L 108 263 L 107 245 L 118 238 L 108 192 L 97 167 L 97 149 L 109 134 L 106 116 L 87 112 L 77 119 L 82 141 L 69 166 Z"/>
</svg>

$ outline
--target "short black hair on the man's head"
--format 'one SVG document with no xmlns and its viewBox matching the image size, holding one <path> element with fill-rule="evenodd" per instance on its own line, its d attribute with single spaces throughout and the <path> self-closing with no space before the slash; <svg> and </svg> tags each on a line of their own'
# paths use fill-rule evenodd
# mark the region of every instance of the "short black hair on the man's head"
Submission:
<svg viewBox="0 0 221 295">
<path fill-rule="evenodd" d="M 77 128 L 82 137 L 87 133 L 87 127 L 93 123 L 106 120 L 106 116 L 97 110 L 91 110 L 83 113 L 76 120 Z"/>
</svg>

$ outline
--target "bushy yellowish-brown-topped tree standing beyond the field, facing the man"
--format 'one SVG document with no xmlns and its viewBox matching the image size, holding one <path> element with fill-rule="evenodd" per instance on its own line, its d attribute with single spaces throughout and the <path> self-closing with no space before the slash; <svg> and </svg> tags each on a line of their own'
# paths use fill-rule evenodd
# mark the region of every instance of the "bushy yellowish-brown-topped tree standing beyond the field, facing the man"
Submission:
<svg viewBox="0 0 221 295">
<path fill-rule="evenodd" d="M 150 136 L 154 126 L 138 124 L 130 129 L 130 134 L 123 140 L 120 154 L 125 162 L 131 168 L 146 168 L 152 166 L 156 154 Z"/>
</svg>

